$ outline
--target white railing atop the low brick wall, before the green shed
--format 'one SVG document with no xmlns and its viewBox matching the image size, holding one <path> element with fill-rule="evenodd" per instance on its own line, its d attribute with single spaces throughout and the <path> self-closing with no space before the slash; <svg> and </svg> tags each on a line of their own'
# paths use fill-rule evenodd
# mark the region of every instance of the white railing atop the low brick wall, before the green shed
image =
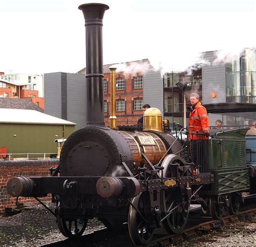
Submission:
<svg viewBox="0 0 256 247">
<path fill-rule="evenodd" d="M 51 159 L 53 153 L 0 153 L 4 160 L 31 160 L 31 159 Z M 57 157 L 57 153 L 56 154 Z"/>
</svg>

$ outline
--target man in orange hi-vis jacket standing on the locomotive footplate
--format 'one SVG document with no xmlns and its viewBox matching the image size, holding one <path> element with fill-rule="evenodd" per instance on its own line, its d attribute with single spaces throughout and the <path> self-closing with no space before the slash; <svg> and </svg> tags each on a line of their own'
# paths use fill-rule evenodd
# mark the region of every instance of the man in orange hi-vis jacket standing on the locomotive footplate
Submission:
<svg viewBox="0 0 256 247">
<path fill-rule="evenodd" d="M 204 162 L 201 158 L 204 154 L 199 153 L 199 151 L 204 152 L 203 148 L 200 148 L 204 146 L 204 141 L 200 140 L 208 139 L 209 119 L 205 107 L 203 107 L 202 103 L 199 101 L 198 94 L 191 94 L 190 102 L 192 106 L 188 127 L 190 134 L 188 138 L 191 140 L 191 159 L 194 164 L 200 165 L 200 163 Z"/>
</svg>

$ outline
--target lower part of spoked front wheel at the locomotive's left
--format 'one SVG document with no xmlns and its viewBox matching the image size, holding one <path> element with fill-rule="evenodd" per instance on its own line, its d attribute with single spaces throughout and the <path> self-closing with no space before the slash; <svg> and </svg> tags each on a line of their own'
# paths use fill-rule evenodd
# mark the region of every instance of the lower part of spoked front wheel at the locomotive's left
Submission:
<svg viewBox="0 0 256 247">
<path fill-rule="evenodd" d="M 76 238 L 83 235 L 88 220 L 82 218 L 62 218 L 57 216 L 57 223 L 60 232 L 68 238 Z"/>
</svg>

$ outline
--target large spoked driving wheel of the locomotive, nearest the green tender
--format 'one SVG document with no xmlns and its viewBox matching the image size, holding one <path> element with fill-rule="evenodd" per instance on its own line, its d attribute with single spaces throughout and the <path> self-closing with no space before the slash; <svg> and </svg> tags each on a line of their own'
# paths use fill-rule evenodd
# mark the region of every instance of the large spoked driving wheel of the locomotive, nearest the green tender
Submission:
<svg viewBox="0 0 256 247">
<path fill-rule="evenodd" d="M 182 177 L 184 174 L 177 171 L 176 165 L 185 165 L 185 161 L 179 156 L 169 154 L 162 164 L 164 167 L 163 177 Z M 187 223 L 190 199 L 183 195 L 180 187 L 162 189 L 160 194 L 160 211 L 166 231 L 170 234 L 178 234 L 185 228 Z"/>
</svg>

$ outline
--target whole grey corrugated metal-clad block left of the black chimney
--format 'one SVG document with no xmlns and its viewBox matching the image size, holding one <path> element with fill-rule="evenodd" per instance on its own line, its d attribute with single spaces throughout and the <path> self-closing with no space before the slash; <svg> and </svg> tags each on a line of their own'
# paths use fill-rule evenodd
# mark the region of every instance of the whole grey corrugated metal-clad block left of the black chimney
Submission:
<svg viewBox="0 0 256 247">
<path fill-rule="evenodd" d="M 44 74 L 45 113 L 76 123 L 76 130 L 86 125 L 85 75 Z"/>
</svg>

